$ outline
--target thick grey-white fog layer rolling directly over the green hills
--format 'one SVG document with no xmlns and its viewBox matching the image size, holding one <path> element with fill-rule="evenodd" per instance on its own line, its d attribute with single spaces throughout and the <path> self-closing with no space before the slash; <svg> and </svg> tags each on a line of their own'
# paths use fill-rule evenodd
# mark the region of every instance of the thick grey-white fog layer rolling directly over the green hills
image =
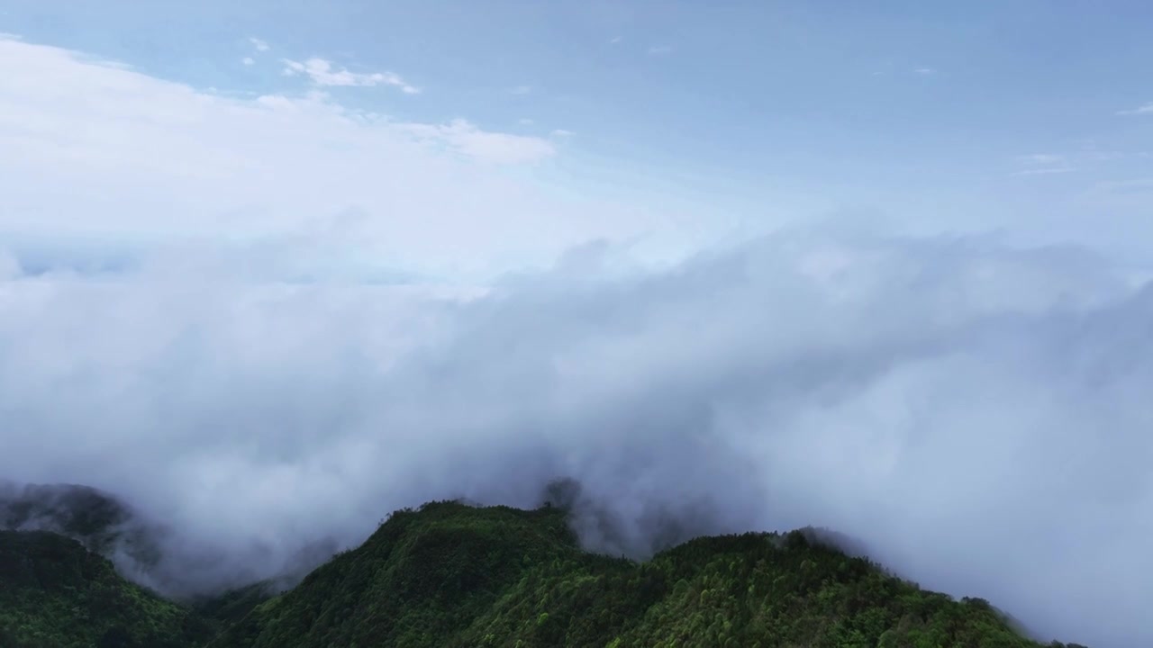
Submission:
<svg viewBox="0 0 1153 648">
<path fill-rule="evenodd" d="M 6 258 L 0 472 L 165 525 L 198 565 L 169 589 L 570 477 L 618 521 L 581 525 L 602 550 L 823 526 L 1045 638 L 1153 641 L 1153 294 L 1088 253 L 809 232 L 623 271 L 591 246 L 457 293 Z"/>
</svg>

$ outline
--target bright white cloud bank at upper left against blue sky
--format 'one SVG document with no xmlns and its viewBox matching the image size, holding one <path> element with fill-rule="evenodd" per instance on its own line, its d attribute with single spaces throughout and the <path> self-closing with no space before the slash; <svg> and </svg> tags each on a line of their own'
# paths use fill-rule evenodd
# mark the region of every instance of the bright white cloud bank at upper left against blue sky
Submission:
<svg viewBox="0 0 1153 648">
<path fill-rule="evenodd" d="M 455 276 L 657 223 L 490 168 L 556 155 L 547 138 L 400 123 L 323 93 L 224 97 L 16 40 L 0 42 L 0 131 L 2 240 L 281 238 L 355 212 L 361 251 L 341 263 Z"/>
</svg>

